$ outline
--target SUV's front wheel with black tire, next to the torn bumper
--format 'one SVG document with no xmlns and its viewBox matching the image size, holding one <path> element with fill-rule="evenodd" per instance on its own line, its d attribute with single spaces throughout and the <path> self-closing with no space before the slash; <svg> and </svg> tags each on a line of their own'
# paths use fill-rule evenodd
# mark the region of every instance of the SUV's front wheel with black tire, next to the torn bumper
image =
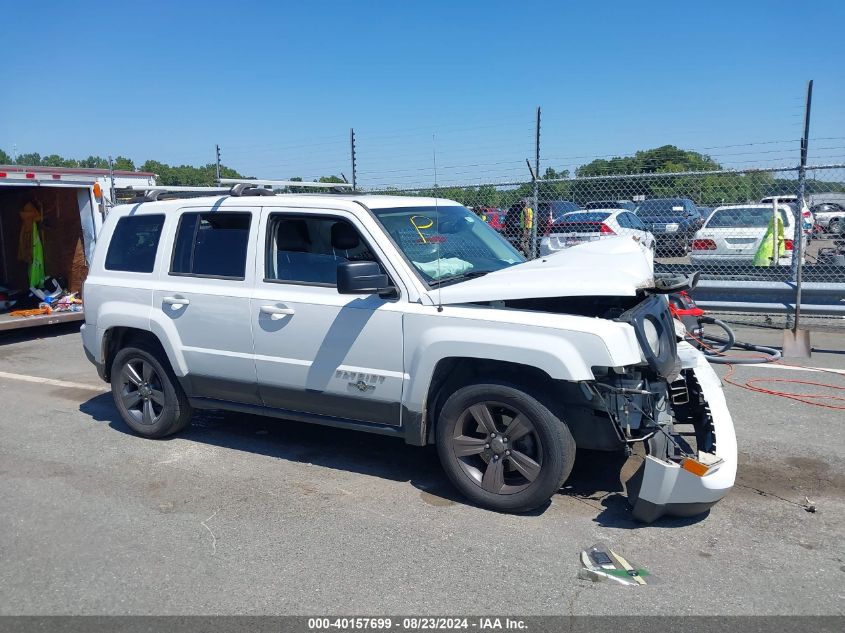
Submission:
<svg viewBox="0 0 845 633">
<path fill-rule="evenodd" d="M 500 432 L 490 433 L 491 424 Z M 455 391 L 440 412 L 436 442 L 452 484 L 473 503 L 497 512 L 527 512 L 547 502 L 575 463 L 575 440 L 566 424 L 536 398 L 504 383 Z"/>
</svg>

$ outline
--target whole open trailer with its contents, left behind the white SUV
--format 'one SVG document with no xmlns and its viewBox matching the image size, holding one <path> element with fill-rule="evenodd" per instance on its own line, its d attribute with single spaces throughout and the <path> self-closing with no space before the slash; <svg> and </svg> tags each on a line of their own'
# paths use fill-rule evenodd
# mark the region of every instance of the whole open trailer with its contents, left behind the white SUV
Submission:
<svg viewBox="0 0 845 633">
<path fill-rule="evenodd" d="M 114 186 L 155 184 L 115 172 Z M 111 200 L 100 169 L 0 166 L 0 331 L 82 321 L 82 285 Z"/>
</svg>

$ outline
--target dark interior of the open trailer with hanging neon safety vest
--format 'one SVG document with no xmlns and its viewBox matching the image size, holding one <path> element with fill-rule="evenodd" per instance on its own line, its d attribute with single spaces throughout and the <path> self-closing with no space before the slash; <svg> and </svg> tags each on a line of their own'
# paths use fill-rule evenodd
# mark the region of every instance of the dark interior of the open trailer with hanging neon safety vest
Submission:
<svg viewBox="0 0 845 633">
<path fill-rule="evenodd" d="M 0 188 L 0 330 L 82 318 L 88 267 L 77 195 Z M 22 311 L 28 316 L 13 316 Z"/>
</svg>

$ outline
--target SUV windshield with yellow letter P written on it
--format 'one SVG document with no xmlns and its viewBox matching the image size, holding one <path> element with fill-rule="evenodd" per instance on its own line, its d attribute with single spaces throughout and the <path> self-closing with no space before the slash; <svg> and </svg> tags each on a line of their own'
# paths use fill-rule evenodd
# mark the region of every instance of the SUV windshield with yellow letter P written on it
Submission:
<svg viewBox="0 0 845 633">
<path fill-rule="evenodd" d="M 465 207 L 401 207 L 373 213 L 427 283 L 462 281 L 525 261 Z"/>
</svg>

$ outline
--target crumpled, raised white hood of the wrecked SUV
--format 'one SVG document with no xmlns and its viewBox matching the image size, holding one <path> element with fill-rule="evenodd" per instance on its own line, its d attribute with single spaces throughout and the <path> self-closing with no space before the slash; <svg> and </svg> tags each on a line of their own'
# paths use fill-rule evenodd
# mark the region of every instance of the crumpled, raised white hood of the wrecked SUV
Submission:
<svg viewBox="0 0 845 633">
<path fill-rule="evenodd" d="M 553 255 L 430 291 L 438 303 L 541 297 L 634 296 L 654 286 L 654 257 L 628 237 L 587 242 Z"/>
</svg>

